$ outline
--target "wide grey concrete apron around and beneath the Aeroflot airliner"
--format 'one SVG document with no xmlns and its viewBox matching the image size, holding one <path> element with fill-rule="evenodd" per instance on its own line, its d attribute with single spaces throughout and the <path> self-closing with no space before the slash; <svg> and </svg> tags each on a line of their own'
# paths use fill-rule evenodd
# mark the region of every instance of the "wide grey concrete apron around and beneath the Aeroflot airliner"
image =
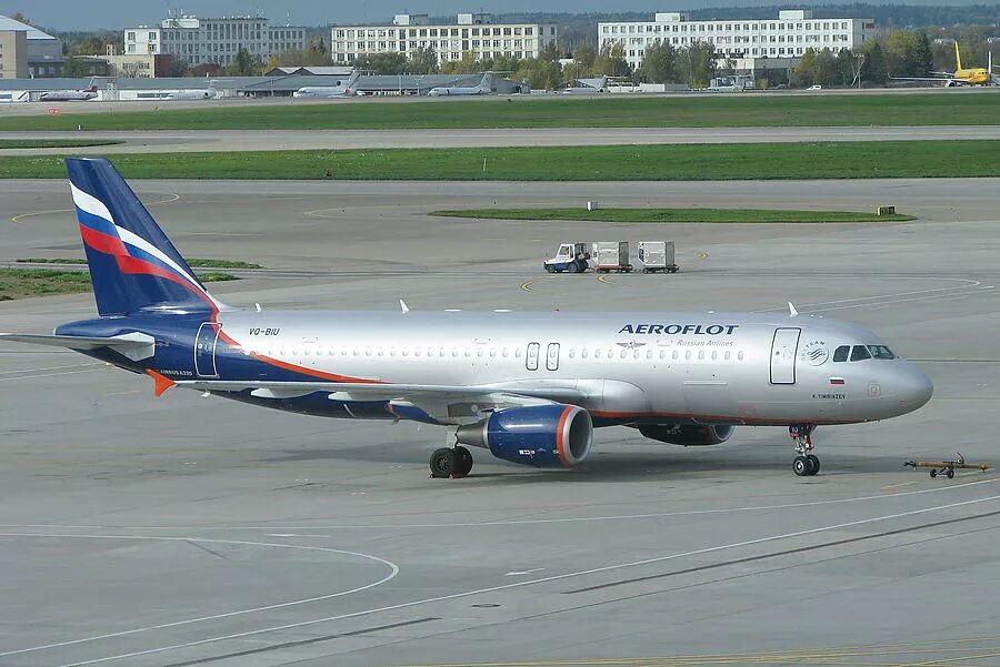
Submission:
<svg viewBox="0 0 1000 667">
<path fill-rule="evenodd" d="M 1000 665 L 1000 485 L 910 458 L 997 458 L 1000 180 L 137 184 L 182 253 L 267 270 L 264 309 L 783 310 L 878 331 L 924 408 L 681 448 L 597 434 L 573 471 L 477 457 L 440 431 L 300 417 L 87 357 L 0 350 L 0 665 Z M 0 262 L 81 256 L 66 185 L 0 182 Z M 428 218 L 574 204 L 871 209 L 910 223 L 620 225 Z M 14 219 L 11 222 L 11 219 Z M 681 273 L 547 275 L 564 240 L 668 238 Z M 0 329 L 91 316 L 0 302 Z"/>
</svg>

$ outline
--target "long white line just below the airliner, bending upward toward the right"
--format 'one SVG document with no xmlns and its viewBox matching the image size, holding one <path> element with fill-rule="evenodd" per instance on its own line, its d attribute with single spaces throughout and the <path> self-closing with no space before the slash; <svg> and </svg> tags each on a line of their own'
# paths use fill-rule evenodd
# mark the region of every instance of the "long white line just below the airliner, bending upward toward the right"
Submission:
<svg viewBox="0 0 1000 667">
<path fill-rule="evenodd" d="M 766 512 L 770 509 L 798 509 L 800 507 L 817 507 L 821 505 L 841 505 L 846 503 L 860 503 L 864 501 L 887 501 L 892 498 L 903 498 L 908 496 L 919 496 L 924 494 L 947 493 L 967 488 L 970 486 L 979 486 L 980 484 L 993 484 L 998 477 L 989 479 L 979 479 L 977 482 L 967 482 L 964 484 L 954 484 L 952 486 L 937 486 L 934 488 L 921 488 L 919 491 L 904 491 L 900 493 L 887 493 L 871 496 L 856 496 L 853 498 L 834 498 L 832 501 L 810 501 L 808 503 L 789 503 L 786 505 L 752 505 L 748 507 L 721 507 L 719 509 L 688 509 L 684 512 L 656 512 L 649 514 L 612 514 L 604 516 L 577 516 L 567 518 L 526 518 L 509 519 L 496 522 L 477 522 L 477 523 L 457 523 L 457 524 L 384 524 L 384 525 L 350 525 L 341 524 L 334 526 L 101 526 L 96 524 L 89 525 L 62 525 L 62 524 L 0 524 L 0 528 L 48 528 L 48 529 L 67 529 L 67 530 L 381 530 L 386 528 L 478 528 L 489 526 L 524 526 L 533 524 L 572 524 L 586 522 L 618 522 L 628 519 L 642 518 L 669 518 L 672 516 L 700 516 L 706 514 L 728 514 L 738 512 Z M 289 537 L 334 537 L 333 535 L 317 535 L 314 533 L 287 533 L 271 534 Z"/>
</svg>

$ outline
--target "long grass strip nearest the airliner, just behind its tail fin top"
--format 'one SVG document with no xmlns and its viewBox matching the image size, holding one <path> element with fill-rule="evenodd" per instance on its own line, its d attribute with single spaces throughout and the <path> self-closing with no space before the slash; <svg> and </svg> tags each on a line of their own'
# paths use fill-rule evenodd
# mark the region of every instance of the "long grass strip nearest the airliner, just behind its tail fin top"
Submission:
<svg viewBox="0 0 1000 667">
<path fill-rule="evenodd" d="M 321 180 L 330 169 L 351 180 L 709 181 L 997 176 L 998 155 L 1000 141 L 956 140 L 152 153 L 114 165 L 130 179 Z M 56 155 L 0 156 L 0 178 L 64 179 L 66 168 Z"/>
</svg>

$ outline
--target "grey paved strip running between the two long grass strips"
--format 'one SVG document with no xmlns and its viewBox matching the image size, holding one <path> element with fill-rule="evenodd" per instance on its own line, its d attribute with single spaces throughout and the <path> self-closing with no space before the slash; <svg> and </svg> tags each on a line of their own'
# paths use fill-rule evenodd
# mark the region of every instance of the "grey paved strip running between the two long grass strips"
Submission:
<svg viewBox="0 0 1000 667">
<path fill-rule="evenodd" d="M 501 146 L 802 143 L 810 141 L 953 141 L 1000 139 L 1000 125 L 878 128 L 544 128 L 482 130 L 190 130 L 0 132 L 3 139 L 109 139 L 121 144 L 79 149 L 4 149 L 4 155 L 81 155 L 200 151 L 304 151 L 313 149 L 453 149 Z"/>
</svg>

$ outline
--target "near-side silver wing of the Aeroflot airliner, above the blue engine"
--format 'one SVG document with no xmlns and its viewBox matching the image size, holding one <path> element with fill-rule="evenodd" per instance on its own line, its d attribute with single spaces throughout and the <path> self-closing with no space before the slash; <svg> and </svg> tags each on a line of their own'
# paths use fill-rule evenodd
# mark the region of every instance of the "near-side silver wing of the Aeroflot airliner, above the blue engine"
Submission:
<svg viewBox="0 0 1000 667">
<path fill-rule="evenodd" d="M 393 412 L 419 408 L 434 420 L 458 424 L 479 420 L 487 411 L 538 405 L 540 403 L 580 404 L 588 393 L 569 386 L 537 383 L 489 385 L 429 385 L 343 382 L 254 382 L 219 380 L 178 380 L 179 387 L 207 392 L 243 392 L 258 398 L 294 398 L 328 392 L 331 401 L 386 401 Z"/>
</svg>

